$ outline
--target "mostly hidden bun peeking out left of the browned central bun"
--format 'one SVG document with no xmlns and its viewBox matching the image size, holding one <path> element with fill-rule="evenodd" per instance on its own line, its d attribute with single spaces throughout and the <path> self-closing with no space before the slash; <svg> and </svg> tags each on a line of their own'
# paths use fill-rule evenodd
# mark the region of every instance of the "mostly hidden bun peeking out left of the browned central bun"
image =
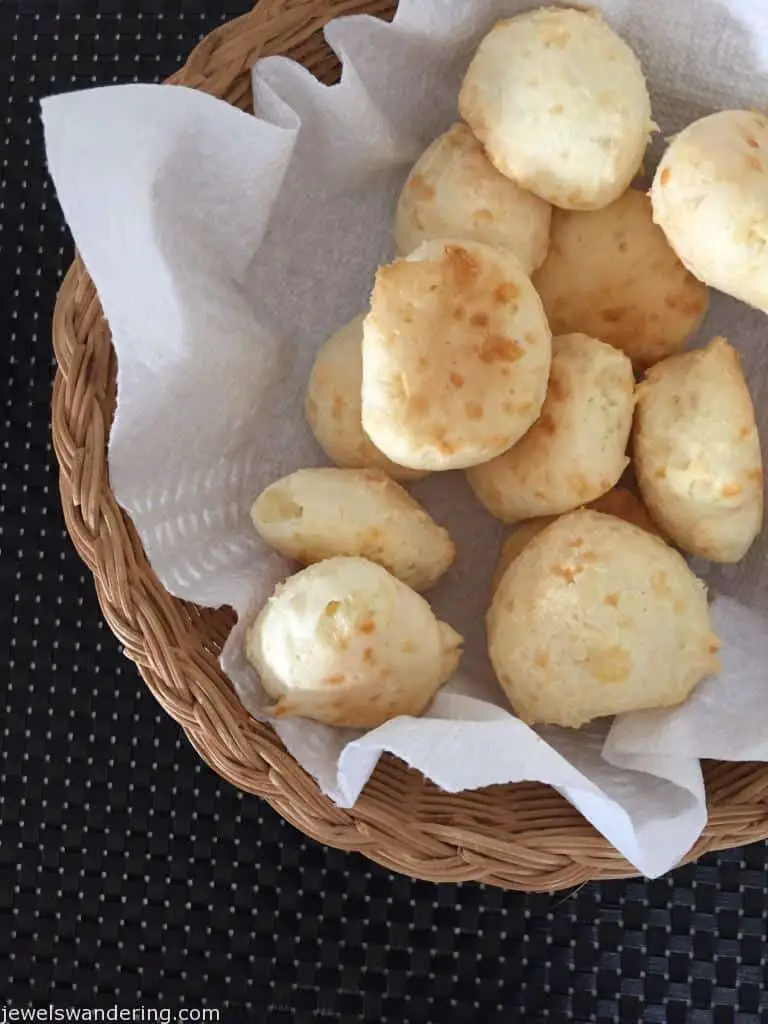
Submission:
<svg viewBox="0 0 768 1024">
<path fill-rule="evenodd" d="M 315 440 L 331 462 L 347 469 L 383 469 L 394 480 L 415 480 L 415 469 L 398 466 L 362 429 L 362 321 L 360 313 L 332 334 L 314 359 L 304 412 Z"/>
</svg>

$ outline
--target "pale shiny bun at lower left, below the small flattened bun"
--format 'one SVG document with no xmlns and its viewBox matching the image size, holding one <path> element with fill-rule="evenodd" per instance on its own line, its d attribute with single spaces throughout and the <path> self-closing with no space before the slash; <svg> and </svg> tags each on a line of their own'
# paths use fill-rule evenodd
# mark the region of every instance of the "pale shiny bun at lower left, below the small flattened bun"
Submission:
<svg viewBox="0 0 768 1024">
<path fill-rule="evenodd" d="M 365 558 L 331 558 L 281 584 L 246 655 L 266 713 L 373 729 L 421 715 L 459 663 L 462 638 L 424 598 Z"/>
</svg>

